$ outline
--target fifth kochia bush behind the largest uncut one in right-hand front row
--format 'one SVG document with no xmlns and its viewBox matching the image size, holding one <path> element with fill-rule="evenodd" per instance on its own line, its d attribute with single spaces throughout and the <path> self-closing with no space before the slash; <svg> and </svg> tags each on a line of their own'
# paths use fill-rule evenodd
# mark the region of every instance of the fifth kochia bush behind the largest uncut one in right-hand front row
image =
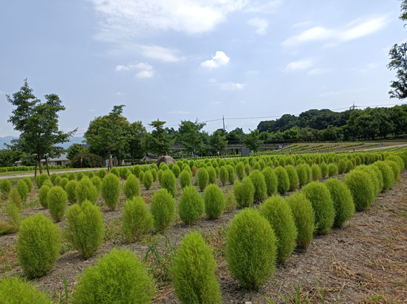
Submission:
<svg viewBox="0 0 407 304">
<path fill-rule="evenodd" d="M 361 211 L 371 206 L 375 198 L 375 185 L 368 172 L 352 170 L 345 176 L 344 181 L 352 193 L 356 210 Z"/>
</svg>

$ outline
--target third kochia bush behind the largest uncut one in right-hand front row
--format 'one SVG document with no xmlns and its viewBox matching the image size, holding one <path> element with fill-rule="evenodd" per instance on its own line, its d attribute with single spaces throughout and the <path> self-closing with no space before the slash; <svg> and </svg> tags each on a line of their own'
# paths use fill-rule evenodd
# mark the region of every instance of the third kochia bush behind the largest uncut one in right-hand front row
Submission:
<svg viewBox="0 0 407 304">
<path fill-rule="evenodd" d="M 312 181 L 302 189 L 302 193 L 312 203 L 316 232 L 326 234 L 331 231 L 335 220 L 335 208 L 328 188 L 318 181 Z"/>
</svg>

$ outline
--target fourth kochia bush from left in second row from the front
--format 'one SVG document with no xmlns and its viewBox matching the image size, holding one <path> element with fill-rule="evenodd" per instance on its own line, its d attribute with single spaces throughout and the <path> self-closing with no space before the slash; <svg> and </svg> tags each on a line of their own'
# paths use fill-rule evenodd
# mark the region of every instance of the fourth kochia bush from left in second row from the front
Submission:
<svg viewBox="0 0 407 304">
<path fill-rule="evenodd" d="M 165 172 L 173 174 L 171 170 L 166 170 Z M 154 228 L 157 231 L 166 230 L 175 221 L 175 200 L 166 188 L 159 189 L 152 196 L 151 213 Z"/>
</svg>

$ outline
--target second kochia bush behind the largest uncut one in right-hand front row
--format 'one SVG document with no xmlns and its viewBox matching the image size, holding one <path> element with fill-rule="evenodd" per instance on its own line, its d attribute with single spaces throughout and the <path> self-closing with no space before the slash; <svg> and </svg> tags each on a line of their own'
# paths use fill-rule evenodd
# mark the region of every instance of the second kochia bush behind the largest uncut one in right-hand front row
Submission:
<svg viewBox="0 0 407 304">
<path fill-rule="evenodd" d="M 314 210 L 311 202 L 300 192 L 295 192 L 286 198 L 291 208 L 295 226 L 297 227 L 297 247 L 307 248 L 314 233 Z"/>
</svg>

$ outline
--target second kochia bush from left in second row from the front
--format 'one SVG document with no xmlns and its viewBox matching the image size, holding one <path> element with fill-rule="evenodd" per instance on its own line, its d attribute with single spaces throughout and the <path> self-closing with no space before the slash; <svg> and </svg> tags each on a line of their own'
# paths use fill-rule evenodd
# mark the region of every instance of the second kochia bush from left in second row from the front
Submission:
<svg viewBox="0 0 407 304">
<path fill-rule="evenodd" d="M 64 235 L 69 244 L 84 258 L 90 258 L 98 251 L 105 232 L 100 207 L 88 200 L 82 205 L 72 205 L 67 212 L 67 228 Z"/>
</svg>

